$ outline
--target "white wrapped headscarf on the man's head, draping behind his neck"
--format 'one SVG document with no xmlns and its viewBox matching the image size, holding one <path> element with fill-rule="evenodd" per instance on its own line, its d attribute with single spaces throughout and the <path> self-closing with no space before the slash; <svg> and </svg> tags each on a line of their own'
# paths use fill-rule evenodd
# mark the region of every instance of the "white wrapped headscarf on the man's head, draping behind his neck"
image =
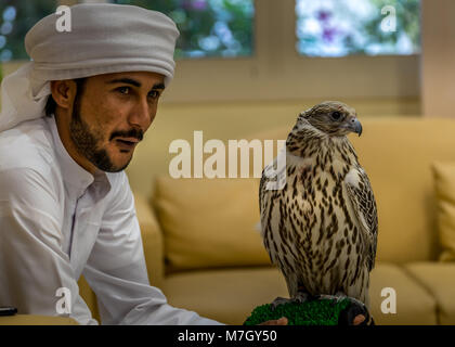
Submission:
<svg viewBox="0 0 455 347">
<path fill-rule="evenodd" d="M 0 131 L 42 117 L 50 81 L 121 72 L 173 77 L 179 30 L 159 12 L 132 5 L 84 3 L 70 8 L 72 30 L 57 30 L 58 15 L 39 21 L 26 35 L 31 62 L 1 85 Z"/>
</svg>

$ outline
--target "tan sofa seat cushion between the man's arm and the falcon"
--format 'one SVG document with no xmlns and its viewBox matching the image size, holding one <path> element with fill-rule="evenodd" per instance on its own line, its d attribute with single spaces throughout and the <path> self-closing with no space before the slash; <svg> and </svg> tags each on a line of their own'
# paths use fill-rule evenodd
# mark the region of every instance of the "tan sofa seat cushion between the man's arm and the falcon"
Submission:
<svg viewBox="0 0 455 347">
<path fill-rule="evenodd" d="M 256 306 L 288 297 L 272 267 L 188 271 L 169 275 L 162 293 L 170 305 L 225 324 L 243 324 Z"/>
</svg>

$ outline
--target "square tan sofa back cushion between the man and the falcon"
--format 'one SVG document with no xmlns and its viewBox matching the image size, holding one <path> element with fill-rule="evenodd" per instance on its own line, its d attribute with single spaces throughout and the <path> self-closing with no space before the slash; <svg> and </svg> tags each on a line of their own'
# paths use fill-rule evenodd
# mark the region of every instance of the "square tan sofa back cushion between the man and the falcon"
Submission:
<svg viewBox="0 0 455 347">
<path fill-rule="evenodd" d="M 270 265 L 257 230 L 259 179 L 156 180 L 168 272 Z"/>
</svg>

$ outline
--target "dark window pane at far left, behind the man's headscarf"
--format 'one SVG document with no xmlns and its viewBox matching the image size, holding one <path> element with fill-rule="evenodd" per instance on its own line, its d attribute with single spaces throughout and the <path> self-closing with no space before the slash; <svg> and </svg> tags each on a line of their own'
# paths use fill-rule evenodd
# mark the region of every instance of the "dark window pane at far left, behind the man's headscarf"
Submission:
<svg viewBox="0 0 455 347">
<path fill-rule="evenodd" d="M 25 35 L 39 20 L 55 12 L 55 3 L 54 0 L 1 0 L 0 62 L 28 60 Z"/>
</svg>

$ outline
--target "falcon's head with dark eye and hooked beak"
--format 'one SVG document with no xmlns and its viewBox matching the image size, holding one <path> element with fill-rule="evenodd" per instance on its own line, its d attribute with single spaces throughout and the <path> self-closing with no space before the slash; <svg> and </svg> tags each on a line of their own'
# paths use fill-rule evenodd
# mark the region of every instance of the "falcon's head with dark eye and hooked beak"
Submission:
<svg viewBox="0 0 455 347">
<path fill-rule="evenodd" d="M 362 125 L 355 110 L 339 101 L 324 101 L 302 112 L 297 125 L 306 120 L 332 137 L 342 137 L 349 132 L 362 134 Z"/>
</svg>

